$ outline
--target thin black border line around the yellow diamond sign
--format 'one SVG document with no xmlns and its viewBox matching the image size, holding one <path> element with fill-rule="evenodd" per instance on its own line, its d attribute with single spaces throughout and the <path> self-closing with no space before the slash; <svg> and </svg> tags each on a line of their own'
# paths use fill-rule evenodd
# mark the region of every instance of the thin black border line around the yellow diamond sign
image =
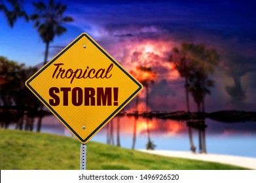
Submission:
<svg viewBox="0 0 256 183">
<path fill-rule="evenodd" d="M 43 99 L 43 97 L 41 97 L 41 95 L 39 95 L 39 93 L 37 93 L 29 84 L 33 79 L 35 79 L 38 75 L 40 75 L 43 71 L 45 71 L 45 69 L 50 66 L 56 59 L 58 59 L 60 56 L 62 56 L 62 54 L 64 54 L 69 48 L 71 48 L 71 46 L 73 46 L 73 44 L 75 44 L 77 41 L 79 41 L 83 36 L 85 36 L 90 42 L 92 42 L 92 44 L 94 44 L 94 46 L 96 46 L 107 58 L 109 58 L 117 67 L 119 67 L 119 69 L 124 72 L 130 79 L 132 79 L 137 86 L 139 87 L 134 93 L 132 93 L 132 95 L 130 95 L 130 97 L 128 97 L 128 99 L 126 99 L 126 101 L 124 101 L 124 103 L 122 103 L 122 105 L 119 106 L 119 108 L 117 108 L 107 119 L 105 119 L 94 131 L 92 131 L 92 133 L 90 133 L 90 135 L 88 135 L 88 137 L 86 137 L 85 139 L 82 139 L 76 132 L 75 130 L 73 130 L 73 128 L 67 124 L 67 122 L 65 122 L 65 120 L 45 101 L 45 99 Z M 35 95 L 37 95 L 37 97 L 39 97 L 39 99 L 41 99 L 41 101 L 43 101 L 43 103 L 50 108 L 50 110 L 52 111 L 52 113 L 54 113 L 56 116 L 58 116 L 58 118 L 73 132 L 73 134 L 80 139 L 81 142 L 86 142 L 88 141 L 88 139 L 90 139 L 90 137 L 92 137 L 92 135 L 94 135 L 94 133 L 96 133 L 110 118 L 112 118 L 113 116 L 115 116 L 117 114 L 117 112 L 120 110 L 120 108 L 124 107 L 124 105 L 126 105 L 126 103 L 128 103 L 128 101 L 130 101 L 130 99 L 132 99 L 132 97 L 134 97 L 134 95 L 136 95 L 137 92 L 139 92 L 139 90 L 142 89 L 142 86 L 139 82 L 137 82 L 137 80 L 135 80 L 129 73 L 127 73 L 122 67 L 120 67 L 120 65 L 114 60 L 112 59 L 104 50 L 102 50 L 102 48 L 100 48 L 100 46 L 98 46 L 98 44 L 96 44 L 96 42 L 94 42 L 90 37 L 88 37 L 88 35 L 86 35 L 86 33 L 82 33 L 81 36 L 79 36 L 75 41 L 73 41 L 69 46 L 67 46 L 67 48 L 65 48 L 64 50 L 62 50 L 62 52 L 60 52 L 60 54 L 58 54 L 58 56 L 56 56 L 56 58 L 52 59 L 49 63 L 47 63 L 45 65 L 45 67 L 43 67 L 43 69 L 41 69 L 38 73 L 36 73 L 35 75 L 33 75 L 31 78 L 29 78 L 29 80 L 27 80 L 26 82 L 27 87 L 33 91 L 33 93 L 35 93 Z"/>
</svg>

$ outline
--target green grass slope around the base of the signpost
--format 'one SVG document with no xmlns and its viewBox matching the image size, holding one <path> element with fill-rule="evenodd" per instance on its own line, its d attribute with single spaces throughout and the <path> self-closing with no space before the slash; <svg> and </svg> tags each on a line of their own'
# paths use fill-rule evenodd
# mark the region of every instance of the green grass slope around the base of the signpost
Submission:
<svg viewBox="0 0 256 183">
<path fill-rule="evenodd" d="M 87 169 L 243 169 L 231 165 L 167 158 L 88 142 Z M 80 143 L 45 133 L 0 129 L 0 169 L 79 169 Z"/>
</svg>

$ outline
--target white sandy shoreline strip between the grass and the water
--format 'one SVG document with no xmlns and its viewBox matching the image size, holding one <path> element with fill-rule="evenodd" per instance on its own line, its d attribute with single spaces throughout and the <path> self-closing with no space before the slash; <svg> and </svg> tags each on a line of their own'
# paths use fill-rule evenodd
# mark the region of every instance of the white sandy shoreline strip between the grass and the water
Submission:
<svg viewBox="0 0 256 183">
<path fill-rule="evenodd" d="M 137 150 L 149 154 L 168 156 L 175 158 L 196 159 L 200 161 L 210 161 L 228 165 L 236 165 L 249 169 L 256 169 L 256 158 L 243 156 L 221 155 L 221 154 L 193 154 L 192 152 L 172 151 L 172 150 Z"/>
</svg>

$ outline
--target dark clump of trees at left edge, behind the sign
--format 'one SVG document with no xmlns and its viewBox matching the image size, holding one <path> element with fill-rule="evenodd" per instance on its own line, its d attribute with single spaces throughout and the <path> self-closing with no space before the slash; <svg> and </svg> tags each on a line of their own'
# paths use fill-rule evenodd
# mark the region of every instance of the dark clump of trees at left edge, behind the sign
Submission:
<svg viewBox="0 0 256 183">
<path fill-rule="evenodd" d="M 17 121 L 16 129 L 22 129 L 24 124 L 24 111 L 28 108 L 33 108 L 33 118 L 37 114 L 40 106 L 40 101 L 29 92 L 25 86 L 25 81 L 29 76 L 37 71 L 36 68 L 24 67 L 24 64 L 18 64 L 15 61 L 10 61 L 7 58 L 0 57 L 0 76 L 4 78 L 4 82 L 0 84 L 0 105 L 4 110 L 3 115 L 8 117 L 13 114 Z M 27 112 L 27 115 L 31 112 Z M 20 116 L 20 120 L 15 115 Z M 26 129 L 33 129 L 33 119 L 26 118 Z M 5 118 L 5 122 L 9 123 L 10 118 Z"/>
</svg>

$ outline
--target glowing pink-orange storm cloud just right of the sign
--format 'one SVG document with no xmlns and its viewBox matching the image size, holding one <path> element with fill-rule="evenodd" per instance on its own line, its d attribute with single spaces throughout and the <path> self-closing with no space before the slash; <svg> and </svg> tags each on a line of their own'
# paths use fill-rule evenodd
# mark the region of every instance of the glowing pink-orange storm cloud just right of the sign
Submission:
<svg viewBox="0 0 256 183">
<path fill-rule="evenodd" d="M 121 45 L 120 45 L 121 44 Z M 161 79 L 175 80 L 179 78 L 179 73 L 174 68 L 173 63 L 168 61 L 170 52 L 175 46 L 174 42 L 162 40 L 145 41 L 124 41 L 118 47 L 114 47 L 113 56 L 128 69 L 133 71 L 138 80 L 153 77 L 156 81 Z M 139 73 L 138 67 L 150 67 L 156 76 L 149 72 Z M 164 72 L 162 72 L 164 70 Z M 135 74 L 135 72 L 137 72 Z"/>
</svg>

